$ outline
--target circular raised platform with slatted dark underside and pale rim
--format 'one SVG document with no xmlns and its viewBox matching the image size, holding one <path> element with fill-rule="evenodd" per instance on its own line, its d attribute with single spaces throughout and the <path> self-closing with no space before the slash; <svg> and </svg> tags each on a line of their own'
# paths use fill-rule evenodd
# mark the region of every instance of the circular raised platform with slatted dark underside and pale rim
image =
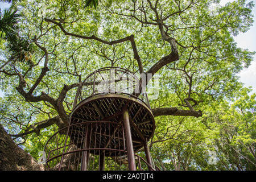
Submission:
<svg viewBox="0 0 256 182">
<path fill-rule="evenodd" d="M 123 127 L 119 126 L 122 125 L 122 108 L 125 105 L 127 105 L 129 112 L 134 152 L 137 152 L 143 147 L 143 143 L 148 141 L 154 134 L 155 120 L 150 107 L 133 95 L 97 94 L 88 97 L 73 109 L 70 117 L 70 125 L 86 121 L 90 123 L 92 123 L 92 121 L 95 123 L 97 123 L 97 121 L 118 123 L 119 125 L 111 125 L 108 127 L 90 124 L 90 130 L 86 129 L 86 131 L 87 133 L 90 132 L 90 135 L 94 136 L 95 134 L 95 137 L 90 140 L 92 146 L 106 148 L 106 142 L 104 141 L 107 136 L 109 137 L 108 145 L 111 145 L 111 148 L 123 150 L 125 149 L 124 138 L 118 136 L 122 136 L 123 134 Z M 76 143 L 81 144 L 82 138 L 85 138 L 86 131 L 82 132 L 83 137 L 77 137 L 81 141 L 77 141 L 77 139 L 74 138 L 71 138 L 71 140 L 76 140 Z M 71 130 L 71 137 L 72 132 Z"/>
</svg>

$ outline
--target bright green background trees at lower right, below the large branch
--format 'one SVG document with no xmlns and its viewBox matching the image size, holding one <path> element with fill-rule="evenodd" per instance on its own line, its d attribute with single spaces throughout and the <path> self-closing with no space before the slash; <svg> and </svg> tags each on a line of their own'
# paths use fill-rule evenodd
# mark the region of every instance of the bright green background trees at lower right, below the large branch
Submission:
<svg viewBox="0 0 256 182">
<path fill-rule="evenodd" d="M 256 102 L 249 91 L 242 89 L 232 102 L 216 101 L 200 121 L 189 121 L 189 127 L 171 131 L 175 125 L 161 125 L 163 132 L 170 127 L 170 133 L 164 132 L 164 138 L 156 134 L 154 141 L 170 139 L 152 147 L 158 166 L 166 170 L 255 170 Z M 213 164 L 210 151 L 216 152 Z"/>
</svg>

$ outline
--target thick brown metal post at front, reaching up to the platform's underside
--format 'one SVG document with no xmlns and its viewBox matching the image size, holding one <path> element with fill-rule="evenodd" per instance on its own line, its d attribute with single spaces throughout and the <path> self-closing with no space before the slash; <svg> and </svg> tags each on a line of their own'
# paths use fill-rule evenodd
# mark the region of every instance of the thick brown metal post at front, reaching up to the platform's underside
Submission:
<svg viewBox="0 0 256 182">
<path fill-rule="evenodd" d="M 127 156 L 129 161 L 129 169 L 130 171 L 136 171 L 134 151 L 133 151 L 133 140 L 131 138 L 131 128 L 130 128 L 129 113 L 127 110 L 127 106 L 123 107 L 123 126 L 125 127 L 126 148 L 127 148 Z"/>
</svg>

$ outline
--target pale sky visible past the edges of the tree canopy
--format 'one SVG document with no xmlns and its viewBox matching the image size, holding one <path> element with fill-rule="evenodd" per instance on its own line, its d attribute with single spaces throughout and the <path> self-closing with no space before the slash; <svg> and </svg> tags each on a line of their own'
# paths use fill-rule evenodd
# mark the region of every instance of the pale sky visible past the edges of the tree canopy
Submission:
<svg viewBox="0 0 256 182">
<path fill-rule="evenodd" d="M 227 2 L 233 2 L 234 0 L 221 0 L 220 4 L 225 5 Z M 249 1 L 247 1 L 249 2 Z M 0 8 L 5 9 L 9 7 L 7 3 L 0 2 Z M 253 8 L 254 23 L 249 31 L 245 33 L 240 33 L 234 36 L 234 40 L 237 42 L 237 46 L 249 49 L 249 51 L 256 51 L 256 7 Z M 240 76 L 240 81 L 243 82 L 244 86 L 252 86 L 253 93 L 256 93 L 256 55 L 254 55 L 254 60 L 251 62 L 249 68 L 243 69 L 238 76 Z M 0 97 L 3 96 L 3 92 L 0 90 Z"/>
</svg>

